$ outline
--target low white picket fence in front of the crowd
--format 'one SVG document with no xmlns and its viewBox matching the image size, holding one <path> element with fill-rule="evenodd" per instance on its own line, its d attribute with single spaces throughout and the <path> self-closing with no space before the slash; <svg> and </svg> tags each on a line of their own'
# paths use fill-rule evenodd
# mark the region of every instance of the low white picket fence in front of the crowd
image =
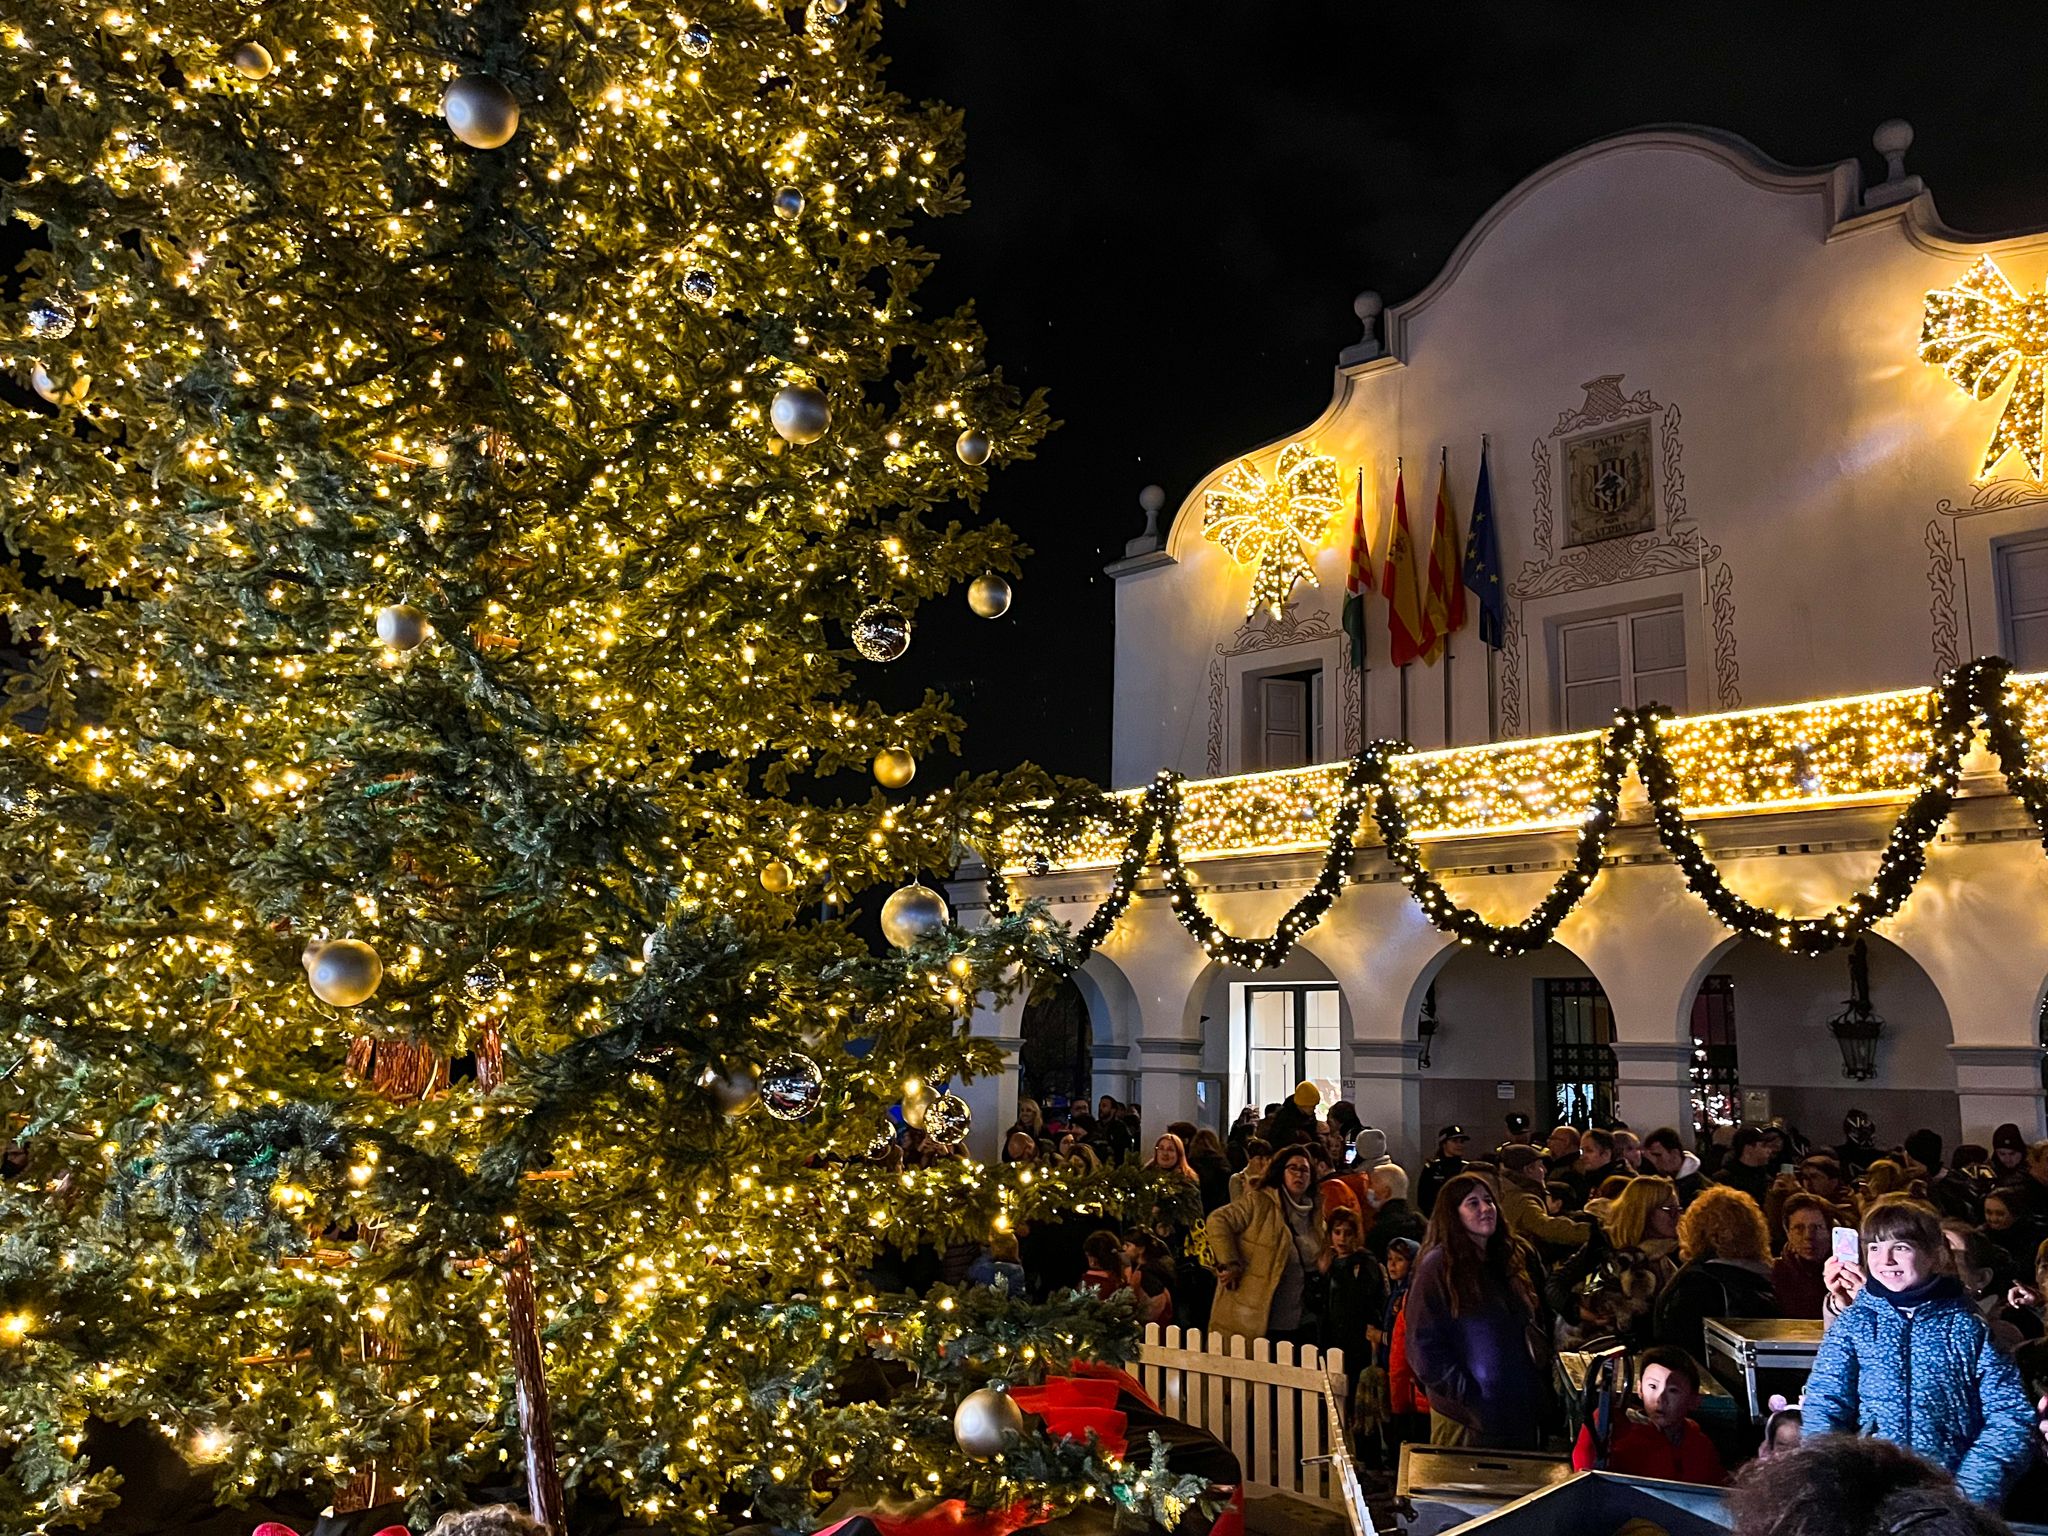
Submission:
<svg viewBox="0 0 2048 1536">
<path fill-rule="evenodd" d="M 1290 1493 L 1374 1536 L 1346 1438 L 1343 1350 L 1147 1323 L 1137 1376 L 1167 1417 L 1231 1448 L 1247 1495 Z"/>
</svg>

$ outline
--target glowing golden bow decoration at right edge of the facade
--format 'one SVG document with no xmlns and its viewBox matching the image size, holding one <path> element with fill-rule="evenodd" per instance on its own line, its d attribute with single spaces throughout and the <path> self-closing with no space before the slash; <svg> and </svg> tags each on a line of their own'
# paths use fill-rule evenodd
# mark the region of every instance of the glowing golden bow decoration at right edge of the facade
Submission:
<svg viewBox="0 0 2048 1536">
<path fill-rule="evenodd" d="M 1927 293 L 1921 362 L 1939 362 L 1976 399 L 2013 379 L 2005 414 L 1978 475 L 2013 449 L 2042 477 L 2042 414 L 2048 408 L 2048 293 L 2019 293 L 1985 256 L 1952 289 Z"/>
</svg>

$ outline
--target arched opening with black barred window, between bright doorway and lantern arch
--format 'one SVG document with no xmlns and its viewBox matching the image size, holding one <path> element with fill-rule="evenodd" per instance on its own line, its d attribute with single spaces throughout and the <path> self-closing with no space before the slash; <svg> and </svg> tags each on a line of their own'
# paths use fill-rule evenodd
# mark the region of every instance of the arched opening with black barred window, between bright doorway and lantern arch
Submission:
<svg viewBox="0 0 2048 1536">
<path fill-rule="evenodd" d="M 1407 1032 L 1417 1042 L 1425 1149 L 1446 1124 L 1493 1147 L 1511 1114 L 1530 1116 L 1538 1135 L 1628 1114 L 1616 1090 L 1608 993 L 1563 944 L 1518 956 L 1446 948 L 1413 983 Z"/>
</svg>

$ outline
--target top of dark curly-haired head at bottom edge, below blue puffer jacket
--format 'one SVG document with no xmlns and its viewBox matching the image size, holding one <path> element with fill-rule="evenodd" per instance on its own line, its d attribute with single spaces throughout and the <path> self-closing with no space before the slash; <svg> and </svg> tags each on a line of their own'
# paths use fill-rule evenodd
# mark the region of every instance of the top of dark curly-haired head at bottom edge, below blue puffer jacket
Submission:
<svg viewBox="0 0 2048 1536">
<path fill-rule="evenodd" d="M 1884 1440 L 1821 1436 L 1749 1462 L 1729 1495 L 1735 1536 L 2011 1536 L 1939 1466 Z"/>
</svg>

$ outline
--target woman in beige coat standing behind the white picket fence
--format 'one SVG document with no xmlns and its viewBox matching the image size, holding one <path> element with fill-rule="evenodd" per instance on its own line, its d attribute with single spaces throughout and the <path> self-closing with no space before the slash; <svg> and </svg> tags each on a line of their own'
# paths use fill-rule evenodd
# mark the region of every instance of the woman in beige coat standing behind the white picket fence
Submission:
<svg viewBox="0 0 2048 1536">
<path fill-rule="evenodd" d="M 1266 1178 L 1208 1214 L 1217 1266 L 1214 1333 L 1276 1343 L 1315 1341 L 1319 1276 L 1329 1270 L 1329 1229 L 1315 1188 L 1315 1161 L 1284 1147 Z"/>
</svg>

